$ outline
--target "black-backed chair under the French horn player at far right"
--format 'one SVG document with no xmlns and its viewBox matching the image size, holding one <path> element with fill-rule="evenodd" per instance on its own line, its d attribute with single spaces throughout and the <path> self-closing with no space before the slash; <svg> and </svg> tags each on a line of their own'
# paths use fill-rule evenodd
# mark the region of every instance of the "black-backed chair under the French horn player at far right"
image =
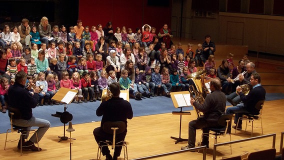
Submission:
<svg viewBox="0 0 284 160">
<path fill-rule="evenodd" d="M 263 129 L 262 129 L 262 110 L 263 110 L 263 104 L 264 104 L 264 100 L 259 100 L 257 101 L 257 103 L 255 104 L 255 108 L 259 110 L 259 114 L 258 115 L 254 115 L 254 114 L 248 114 L 248 113 L 244 113 L 242 117 L 239 117 L 237 119 L 237 123 L 236 126 L 238 126 L 238 122 L 239 120 L 245 120 L 245 130 L 246 130 L 246 126 L 249 125 L 247 124 L 247 121 L 250 122 L 251 121 L 251 136 L 252 136 L 252 132 L 253 132 L 253 121 L 254 120 L 260 120 L 261 122 L 261 133 L 263 134 Z M 236 129 L 234 131 L 234 134 L 236 132 Z"/>
</svg>

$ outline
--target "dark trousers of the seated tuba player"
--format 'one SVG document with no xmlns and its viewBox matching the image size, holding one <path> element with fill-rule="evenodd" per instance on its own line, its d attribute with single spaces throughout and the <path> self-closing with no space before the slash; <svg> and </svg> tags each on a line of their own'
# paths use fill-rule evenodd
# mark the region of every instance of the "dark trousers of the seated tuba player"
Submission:
<svg viewBox="0 0 284 160">
<path fill-rule="evenodd" d="M 195 137 L 196 137 L 196 129 L 201 129 L 203 133 L 209 133 L 208 127 L 217 127 L 219 126 L 217 121 L 207 121 L 204 118 L 198 118 L 196 120 L 191 120 L 188 123 L 188 147 L 192 148 L 195 147 Z M 202 144 L 208 145 L 209 144 L 209 137 L 202 136 Z"/>
</svg>

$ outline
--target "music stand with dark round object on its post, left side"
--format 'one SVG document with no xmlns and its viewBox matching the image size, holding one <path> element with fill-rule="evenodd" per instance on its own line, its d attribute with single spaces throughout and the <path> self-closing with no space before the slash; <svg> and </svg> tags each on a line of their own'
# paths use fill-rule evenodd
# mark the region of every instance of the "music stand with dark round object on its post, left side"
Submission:
<svg viewBox="0 0 284 160">
<path fill-rule="evenodd" d="M 69 89 L 69 88 L 61 87 L 51 98 L 54 101 L 64 103 L 64 112 L 63 113 L 56 111 L 56 114 L 51 114 L 51 116 L 60 117 L 60 121 L 64 124 L 63 136 L 58 136 L 58 138 L 60 138 L 60 140 L 58 142 L 60 142 L 61 140 L 67 140 L 69 138 L 69 137 L 65 136 L 65 123 L 72 120 L 72 114 L 70 114 L 69 112 L 66 111 L 66 109 L 67 109 L 66 104 L 70 104 L 72 102 L 72 100 L 76 96 L 77 92 L 78 92 L 78 90 L 75 90 L 75 89 Z M 62 121 L 62 115 L 66 115 L 67 116 L 66 119 L 68 119 L 68 120 Z M 74 138 L 71 138 L 71 139 L 74 139 Z"/>
</svg>

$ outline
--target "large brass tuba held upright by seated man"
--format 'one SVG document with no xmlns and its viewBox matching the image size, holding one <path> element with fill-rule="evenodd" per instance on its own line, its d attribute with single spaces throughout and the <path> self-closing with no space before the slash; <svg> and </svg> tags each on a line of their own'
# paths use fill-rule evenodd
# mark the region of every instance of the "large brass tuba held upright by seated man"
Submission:
<svg viewBox="0 0 284 160">
<path fill-rule="evenodd" d="M 204 83 L 204 74 L 206 70 L 199 69 L 198 71 L 187 75 L 187 78 L 191 78 L 195 84 L 189 86 L 190 96 L 197 101 L 199 104 L 204 102 L 204 97 L 207 95 L 207 89 Z M 194 96 L 193 96 L 194 95 Z M 192 105 L 194 111 L 196 112 L 197 118 L 202 116 L 202 113 Z"/>
</svg>

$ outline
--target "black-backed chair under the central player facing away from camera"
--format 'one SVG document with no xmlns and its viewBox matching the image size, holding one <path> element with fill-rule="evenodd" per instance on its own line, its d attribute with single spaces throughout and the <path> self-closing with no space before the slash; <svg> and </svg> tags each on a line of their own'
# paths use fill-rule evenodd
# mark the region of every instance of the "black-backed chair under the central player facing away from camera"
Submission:
<svg viewBox="0 0 284 160">
<path fill-rule="evenodd" d="M 113 138 L 112 138 L 112 141 L 104 140 L 104 141 L 98 142 L 96 159 L 100 159 L 101 147 L 108 147 L 108 146 L 111 146 L 111 149 L 113 149 L 115 146 L 122 146 L 123 153 L 124 153 L 124 159 L 128 159 L 126 142 L 124 140 L 115 142 L 115 135 L 124 132 L 124 130 L 126 129 L 125 122 L 124 121 L 106 121 L 103 123 L 102 129 L 104 132 L 108 134 L 113 134 Z"/>
</svg>

